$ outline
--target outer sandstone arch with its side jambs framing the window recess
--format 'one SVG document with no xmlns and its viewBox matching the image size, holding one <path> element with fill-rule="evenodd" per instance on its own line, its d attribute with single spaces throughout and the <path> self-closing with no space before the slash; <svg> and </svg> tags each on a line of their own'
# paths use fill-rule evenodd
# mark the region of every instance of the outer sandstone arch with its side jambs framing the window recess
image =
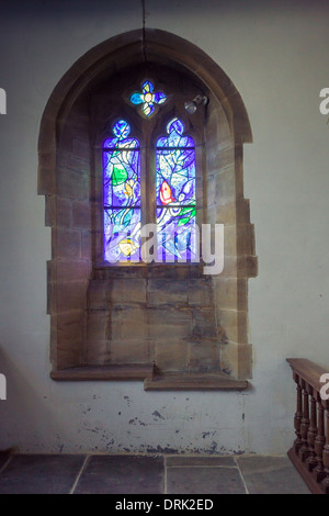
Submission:
<svg viewBox="0 0 329 516">
<path fill-rule="evenodd" d="M 248 341 L 248 278 L 257 276 L 253 225 L 243 198 L 242 146 L 252 142 L 245 104 L 231 80 L 203 51 L 164 31 L 121 34 L 87 52 L 55 87 L 41 121 L 38 193 L 46 198 L 52 227 L 48 313 L 53 378 L 121 378 L 86 361 L 86 313 L 92 277 L 92 149 L 88 99 L 104 78 L 145 63 L 170 67 L 206 90 L 204 221 L 225 225 L 225 267 L 213 278 L 220 321 L 218 370 L 229 379 L 251 378 Z M 105 295 L 105 294 L 104 294 Z M 95 329 L 95 340 L 97 329 Z M 95 345 L 97 346 L 97 345 Z M 72 369 L 84 368 L 83 372 Z M 89 371 L 89 372 L 88 372 Z M 107 371 L 107 372 L 106 372 Z M 133 374 L 145 378 L 143 368 Z M 133 378 L 132 377 L 132 378 Z M 125 374 L 124 378 L 129 378 Z"/>
</svg>

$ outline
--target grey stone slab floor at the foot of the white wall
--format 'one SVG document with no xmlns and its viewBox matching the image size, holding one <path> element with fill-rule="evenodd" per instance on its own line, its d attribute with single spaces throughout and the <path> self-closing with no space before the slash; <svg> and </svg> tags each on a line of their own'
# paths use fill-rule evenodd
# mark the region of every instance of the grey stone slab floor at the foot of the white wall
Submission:
<svg viewBox="0 0 329 516">
<path fill-rule="evenodd" d="M 287 457 L 0 455 L 0 494 L 309 494 Z"/>
</svg>

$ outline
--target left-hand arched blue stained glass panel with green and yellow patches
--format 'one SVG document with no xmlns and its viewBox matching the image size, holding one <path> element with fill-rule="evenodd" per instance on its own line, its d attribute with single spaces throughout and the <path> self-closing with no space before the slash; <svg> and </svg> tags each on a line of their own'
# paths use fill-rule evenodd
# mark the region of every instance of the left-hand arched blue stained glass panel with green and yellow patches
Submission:
<svg viewBox="0 0 329 516">
<path fill-rule="evenodd" d="M 120 120 L 103 143 L 104 260 L 140 259 L 140 146 Z"/>
</svg>

